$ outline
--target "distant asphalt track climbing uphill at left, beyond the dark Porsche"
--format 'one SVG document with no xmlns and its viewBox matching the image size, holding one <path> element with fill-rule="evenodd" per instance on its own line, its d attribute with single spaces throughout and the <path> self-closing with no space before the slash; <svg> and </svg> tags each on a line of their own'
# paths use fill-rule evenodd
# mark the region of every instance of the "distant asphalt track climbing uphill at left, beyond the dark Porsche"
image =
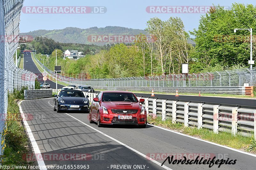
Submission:
<svg viewBox="0 0 256 170">
<path fill-rule="evenodd" d="M 28 63 L 26 62 L 26 60 L 28 60 Z M 44 83 L 43 75 L 36 67 L 36 64 L 33 62 L 30 52 L 28 52 L 28 55 L 24 54 L 24 69 L 35 73 L 38 76 L 37 80 L 40 83 Z M 56 88 L 56 82 L 47 79 L 45 83 L 49 83 L 52 89 Z M 64 85 L 57 84 L 57 87 L 58 89 L 61 89 L 62 87 L 64 87 Z"/>
</svg>

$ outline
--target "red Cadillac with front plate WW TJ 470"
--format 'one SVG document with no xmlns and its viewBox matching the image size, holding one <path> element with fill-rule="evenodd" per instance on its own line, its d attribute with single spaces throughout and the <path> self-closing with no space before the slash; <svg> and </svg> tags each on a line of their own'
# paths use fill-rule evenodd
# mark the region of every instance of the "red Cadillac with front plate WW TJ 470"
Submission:
<svg viewBox="0 0 256 170">
<path fill-rule="evenodd" d="M 90 123 L 147 125 L 147 112 L 132 92 L 103 91 L 93 98 L 90 106 Z"/>
</svg>

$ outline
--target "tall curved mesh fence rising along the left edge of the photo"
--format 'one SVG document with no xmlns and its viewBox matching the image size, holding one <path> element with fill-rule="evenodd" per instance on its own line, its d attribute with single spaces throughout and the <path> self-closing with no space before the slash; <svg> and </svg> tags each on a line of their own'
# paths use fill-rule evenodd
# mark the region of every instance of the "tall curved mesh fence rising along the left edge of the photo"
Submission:
<svg viewBox="0 0 256 170">
<path fill-rule="evenodd" d="M 4 140 L 3 131 L 8 104 L 8 91 L 15 88 L 28 86 L 33 89 L 35 86 L 34 73 L 19 69 L 15 66 L 13 55 L 19 42 L 20 11 L 24 0 L 0 0 L 0 137 Z M 1 142 L 3 154 L 4 141 Z"/>
</svg>

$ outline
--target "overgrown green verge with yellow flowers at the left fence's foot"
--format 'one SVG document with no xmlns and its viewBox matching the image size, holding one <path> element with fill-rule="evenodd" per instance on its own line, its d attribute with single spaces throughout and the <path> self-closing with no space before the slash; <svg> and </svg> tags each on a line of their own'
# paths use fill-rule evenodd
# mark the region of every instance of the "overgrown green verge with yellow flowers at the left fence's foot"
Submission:
<svg viewBox="0 0 256 170">
<path fill-rule="evenodd" d="M 24 159 L 24 156 L 29 153 L 28 137 L 25 128 L 21 124 L 20 109 L 15 94 L 13 93 L 8 94 L 8 108 L 4 136 L 5 148 L 4 155 L 2 156 L 2 165 L 32 165 L 33 162 L 28 162 Z"/>
</svg>

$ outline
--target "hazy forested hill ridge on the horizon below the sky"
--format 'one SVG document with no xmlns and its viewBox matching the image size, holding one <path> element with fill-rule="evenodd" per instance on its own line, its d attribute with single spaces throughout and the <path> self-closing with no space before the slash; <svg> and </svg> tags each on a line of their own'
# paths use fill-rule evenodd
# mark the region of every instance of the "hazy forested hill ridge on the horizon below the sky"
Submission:
<svg viewBox="0 0 256 170">
<path fill-rule="evenodd" d="M 59 30 L 36 30 L 20 34 L 31 35 L 34 38 L 36 36 L 43 36 L 52 38 L 54 41 L 61 43 L 94 44 L 102 46 L 118 42 L 131 43 L 131 40 L 140 33 L 146 34 L 146 31 L 121 26 L 106 26 L 104 28 L 95 26 L 86 29 L 67 27 Z M 189 39 L 188 42 L 195 45 L 195 42 L 191 39 Z"/>
</svg>

